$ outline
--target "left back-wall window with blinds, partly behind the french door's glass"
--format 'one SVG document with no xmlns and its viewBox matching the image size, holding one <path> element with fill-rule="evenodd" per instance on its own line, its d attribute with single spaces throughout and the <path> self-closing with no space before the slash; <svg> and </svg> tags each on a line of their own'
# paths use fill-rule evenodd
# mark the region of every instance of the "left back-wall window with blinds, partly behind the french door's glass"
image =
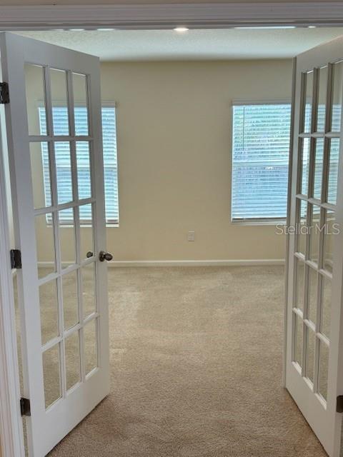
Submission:
<svg viewBox="0 0 343 457">
<path fill-rule="evenodd" d="M 68 122 L 66 106 L 54 106 L 53 108 L 54 126 L 64 126 Z M 39 108 L 39 125 L 41 135 L 46 135 L 46 119 L 45 109 Z M 119 202 L 118 202 L 118 169 L 116 161 L 116 109 L 114 106 L 103 106 L 101 109 L 102 118 L 102 141 L 104 151 L 104 188 L 105 188 L 105 209 L 106 209 L 106 224 L 119 224 Z M 86 107 L 75 107 L 75 129 L 79 135 L 82 132 L 87 133 L 86 129 L 87 116 Z M 85 134 L 86 134 L 85 133 Z M 59 131 L 56 131 L 59 135 Z M 81 188 L 82 194 L 80 199 L 87 198 L 90 194 L 89 183 L 89 161 L 87 160 L 88 144 L 85 141 L 77 143 L 78 155 L 78 178 L 82 180 L 84 176 L 84 185 Z M 56 151 L 56 149 L 58 149 Z M 83 154 L 84 153 L 84 154 Z M 51 205 L 51 195 L 49 186 L 49 160 L 48 147 L 46 143 L 41 143 L 41 156 L 44 171 L 44 192 L 46 206 Z M 66 177 L 64 170 L 67 170 L 69 165 L 69 144 L 67 142 L 55 143 L 56 156 L 56 176 L 57 181 L 61 176 L 61 181 L 57 183 L 59 192 L 70 192 L 71 177 Z M 86 209 L 84 209 L 86 207 Z M 87 224 L 90 221 L 91 214 L 87 212 L 88 206 L 80 207 L 80 221 Z M 70 218 L 68 211 L 64 211 L 65 223 L 68 224 L 72 220 L 72 210 L 70 210 Z"/>
</svg>

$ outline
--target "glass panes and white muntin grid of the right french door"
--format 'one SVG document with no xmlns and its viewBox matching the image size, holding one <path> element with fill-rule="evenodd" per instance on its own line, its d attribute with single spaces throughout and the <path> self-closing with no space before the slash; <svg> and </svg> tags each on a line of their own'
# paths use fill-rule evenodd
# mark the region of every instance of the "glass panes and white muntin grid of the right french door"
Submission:
<svg viewBox="0 0 343 457">
<path fill-rule="evenodd" d="M 337 70 L 339 69 L 339 71 Z M 329 372 L 329 327 L 332 290 L 332 263 L 329 267 L 328 216 L 334 220 L 332 204 L 337 179 L 332 179 L 330 156 L 338 163 L 342 90 L 333 96 L 337 78 L 342 79 L 342 62 L 309 69 L 302 73 L 298 136 L 297 194 L 295 196 L 297 234 L 294 248 L 294 291 L 292 312 L 292 361 L 308 387 L 326 408 Z M 333 106 L 335 105 L 335 107 Z M 333 128 L 332 128 L 333 127 Z M 329 227 L 328 227 L 329 225 Z M 299 272 L 302 274 L 299 275 Z M 302 294 L 302 298 L 299 297 Z"/>
</svg>

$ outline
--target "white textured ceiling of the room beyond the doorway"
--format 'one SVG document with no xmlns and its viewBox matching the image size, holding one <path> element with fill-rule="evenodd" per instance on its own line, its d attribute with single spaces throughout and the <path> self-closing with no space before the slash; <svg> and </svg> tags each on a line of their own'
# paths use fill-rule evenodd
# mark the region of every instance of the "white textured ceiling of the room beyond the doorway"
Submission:
<svg viewBox="0 0 343 457">
<path fill-rule="evenodd" d="M 285 59 L 343 35 L 343 28 L 23 31 L 103 61 Z"/>
</svg>

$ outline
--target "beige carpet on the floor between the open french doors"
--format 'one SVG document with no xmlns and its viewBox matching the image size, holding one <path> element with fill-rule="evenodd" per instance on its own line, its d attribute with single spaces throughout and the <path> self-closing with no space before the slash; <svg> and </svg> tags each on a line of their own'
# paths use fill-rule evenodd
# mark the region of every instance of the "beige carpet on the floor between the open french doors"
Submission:
<svg viewBox="0 0 343 457">
<path fill-rule="evenodd" d="M 111 395 L 49 454 L 322 457 L 281 386 L 281 267 L 109 270 Z"/>
</svg>

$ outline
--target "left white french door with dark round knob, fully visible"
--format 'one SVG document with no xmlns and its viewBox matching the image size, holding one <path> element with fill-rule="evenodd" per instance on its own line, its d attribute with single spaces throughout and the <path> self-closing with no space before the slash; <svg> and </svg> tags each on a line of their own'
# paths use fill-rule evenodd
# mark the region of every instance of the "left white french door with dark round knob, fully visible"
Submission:
<svg viewBox="0 0 343 457">
<path fill-rule="evenodd" d="M 109 393 L 99 59 L 8 33 L 0 46 L 27 446 L 41 457 Z"/>
</svg>

